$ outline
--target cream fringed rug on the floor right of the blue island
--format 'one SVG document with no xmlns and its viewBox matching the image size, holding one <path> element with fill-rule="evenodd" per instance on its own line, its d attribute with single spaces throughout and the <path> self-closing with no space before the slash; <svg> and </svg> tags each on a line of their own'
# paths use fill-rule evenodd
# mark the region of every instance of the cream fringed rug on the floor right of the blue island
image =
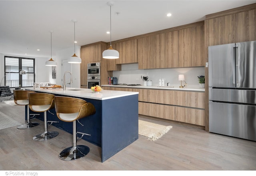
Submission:
<svg viewBox="0 0 256 176">
<path fill-rule="evenodd" d="M 148 137 L 148 140 L 154 141 L 166 134 L 172 126 L 164 126 L 139 120 L 139 134 Z"/>
</svg>

